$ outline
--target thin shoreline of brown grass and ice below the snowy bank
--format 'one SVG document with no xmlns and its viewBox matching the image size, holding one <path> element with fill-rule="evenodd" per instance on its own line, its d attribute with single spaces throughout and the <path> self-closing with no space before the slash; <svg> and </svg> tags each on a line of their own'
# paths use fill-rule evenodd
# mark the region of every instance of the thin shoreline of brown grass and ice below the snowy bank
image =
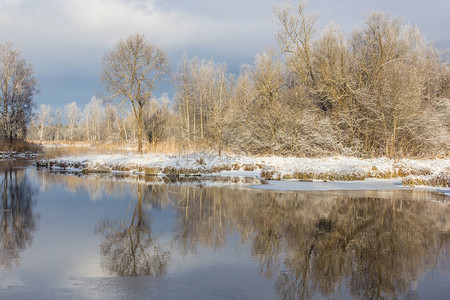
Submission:
<svg viewBox="0 0 450 300">
<path fill-rule="evenodd" d="M 259 191 L 269 192 L 329 192 L 345 195 L 346 192 L 352 194 L 361 193 L 362 197 L 384 197 L 391 193 L 404 191 L 420 191 L 438 193 L 444 197 L 443 202 L 450 203 L 449 187 L 433 186 L 403 186 L 401 178 L 397 179 L 376 179 L 368 178 L 355 181 L 328 181 L 315 180 L 310 182 L 297 180 L 264 180 L 257 175 L 232 175 L 232 174 L 203 174 L 203 175 L 145 175 L 142 173 L 130 173 L 113 171 L 110 173 L 89 173 L 82 174 L 80 171 L 71 170 L 49 170 L 39 169 L 44 172 L 50 172 L 55 175 L 76 176 L 89 180 L 117 181 L 142 184 L 178 184 L 178 185 L 200 185 L 208 187 L 227 187 L 248 188 Z M 419 194 L 420 195 L 420 194 Z M 413 199 L 422 199 L 424 197 L 411 194 Z M 425 197 L 427 198 L 427 197 Z M 411 200 L 411 199 L 410 199 Z"/>
</svg>

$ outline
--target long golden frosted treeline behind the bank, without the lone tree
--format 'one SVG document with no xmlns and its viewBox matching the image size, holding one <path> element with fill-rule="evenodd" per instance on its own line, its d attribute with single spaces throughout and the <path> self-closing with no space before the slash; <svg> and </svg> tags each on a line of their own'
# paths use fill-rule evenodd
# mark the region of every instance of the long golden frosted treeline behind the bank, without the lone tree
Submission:
<svg viewBox="0 0 450 300">
<path fill-rule="evenodd" d="M 302 3 L 275 14 L 281 51 L 257 55 L 238 75 L 183 57 L 173 103 L 141 101 L 148 142 L 219 153 L 448 155 L 450 65 L 416 27 L 374 13 L 347 37 L 333 24 L 316 34 Z M 53 118 L 50 110 L 41 106 L 33 138 L 131 142 L 139 131 L 137 114 L 98 98 Z"/>
</svg>

